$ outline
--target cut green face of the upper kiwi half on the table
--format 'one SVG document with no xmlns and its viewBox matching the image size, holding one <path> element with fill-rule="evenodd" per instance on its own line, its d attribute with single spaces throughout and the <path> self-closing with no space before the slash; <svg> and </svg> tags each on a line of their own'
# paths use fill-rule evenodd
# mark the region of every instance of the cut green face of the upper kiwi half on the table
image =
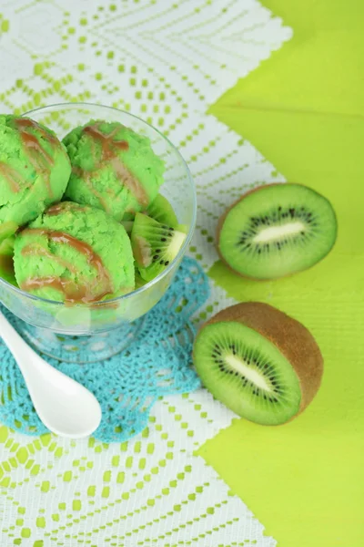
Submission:
<svg viewBox="0 0 364 547">
<path fill-rule="evenodd" d="M 276 279 L 324 258 L 337 237 L 330 202 L 300 184 L 270 184 L 250 191 L 221 217 L 217 248 L 246 277 Z"/>
</svg>

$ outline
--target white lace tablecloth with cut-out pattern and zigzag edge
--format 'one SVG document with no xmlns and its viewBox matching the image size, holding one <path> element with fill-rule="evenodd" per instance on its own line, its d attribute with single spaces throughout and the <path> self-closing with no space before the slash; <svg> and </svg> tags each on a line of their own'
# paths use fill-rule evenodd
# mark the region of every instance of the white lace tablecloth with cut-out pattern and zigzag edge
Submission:
<svg viewBox="0 0 364 547">
<path fill-rule="evenodd" d="M 197 182 L 189 252 L 207 271 L 220 213 L 242 189 L 282 180 L 207 108 L 290 36 L 256 0 L 2 0 L 0 111 L 100 102 L 166 133 Z M 212 287 L 197 321 L 229 302 Z M 200 390 L 160 401 L 121 445 L 0 428 L 1 547 L 273 547 L 194 455 L 233 417 Z"/>
</svg>

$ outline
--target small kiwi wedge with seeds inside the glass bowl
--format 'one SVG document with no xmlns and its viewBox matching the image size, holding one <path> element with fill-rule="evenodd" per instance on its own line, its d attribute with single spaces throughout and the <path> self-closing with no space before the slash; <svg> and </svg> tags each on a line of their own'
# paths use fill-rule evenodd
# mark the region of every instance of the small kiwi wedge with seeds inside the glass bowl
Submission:
<svg viewBox="0 0 364 547">
<path fill-rule="evenodd" d="M 142 279 L 151 281 L 176 258 L 186 233 L 137 212 L 130 239 L 136 268 Z"/>
</svg>

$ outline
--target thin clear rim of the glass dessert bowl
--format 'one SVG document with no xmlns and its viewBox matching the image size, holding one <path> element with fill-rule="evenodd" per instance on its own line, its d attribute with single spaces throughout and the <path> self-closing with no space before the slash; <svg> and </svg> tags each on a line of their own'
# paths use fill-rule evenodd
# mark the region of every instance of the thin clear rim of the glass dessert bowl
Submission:
<svg viewBox="0 0 364 547">
<path fill-rule="evenodd" d="M 193 233 L 195 231 L 196 221 L 197 221 L 197 191 L 196 191 L 195 181 L 193 180 L 191 171 L 189 170 L 189 168 L 187 166 L 187 162 L 186 162 L 186 160 L 184 160 L 182 154 L 177 149 L 177 147 L 166 137 L 166 135 L 163 135 L 163 133 L 161 131 L 159 131 L 157 128 L 152 126 L 150 123 L 148 123 L 144 119 L 141 119 L 138 116 L 136 116 L 135 114 L 131 114 L 130 112 L 127 112 L 126 110 L 122 110 L 120 108 L 115 108 L 115 107 L 109 107 L 107 105 L 102 105 L 102 104 L 97 104 L 97 103 L 66 102 L 66 103 L 55 103 L 55 104 L 52 104 L 52 105 L 47 105 L 46 107 L 32 108 L 31 110 L 27 110 L 26 112 L 22 113 L 20 115 L 20 117 L 23 118 L 23 117 L 27 116 L 27 117 L 31 118 L 31 115 L 34 112 L 39 112 L 39 110 L 48 110 L 50 108 L 70 108 L 70 107 L 91 107 L 91 108 L 105 108 L 107 110 L 113 110 L 113 111 L 118 112 L 119 114 L 125 114 L 126 116 L 128 116 L 130 118 L 137 119 L 142 124 L 145 124 L 150 129 L 152 129 L 153 131 L 156 131 L 157 134 L 163 140 L 167 141 L 168 146 L 177 153 L 177 156 L 179 156 L 179 158 L 182 162 L 182 165 L 184 167 L 184 170 L 186 172 L 187 180 L 189 181 L 189 185 L 190 185 L 191 190 L 193 192 L 192 219 L 191 219 L 191 223 L 190 223 L 189 230 L 188 230 L 188 233 L 187 233 L 187 237 L 186 237 L 182 247 L 179 249 L 179 251 L 177 253 L 177 256 L 172 260 L 171 263 L 169 263 L 167 265 L 167 268 L 163 272 L 158 274 L 154 279 L 147 282 L 147 284 L 143 285 L 142 287 L 139 287 L 138 289 L 135 289 L 131 293 L 122 294 L 121 296 L 116 296 L 116 298 L 110 298 L 108 300 L 99 300 L 99 301 L 93 302 L 91 305 L 94 308 L 95 306 L 103 306 L 103 305 L 110 304 L 110 303 L 126 301 L 128 298 L 132 298 L 136 294 L 137 295 L 143 294 L 148 289 L 150 289 L 153 285 L 158 284 L 160 281 L 162 281 L 162 279 L 164 277 L 166 277 L 167 274 L 169 274 L 170 272 L 173 271 L 173 269 L 176 267 L 177 263 L 180 260 L 182 260 L 183 256 L 185 255 L 185 253 L 187 251 L 187 247 L 188 247 L 189 243 L 191 242 Z M 25 296 L 25 298 L 29 298 L 29 300 L 34 300 L 35 302 L 41 302 L 43 304 L 60 305 L 60 306 L 67 305 L 65 302 L 60 302 L 59 300 L 49 300 L 47 298 L 42 298 L 40 296 L 36 296 L 35 294 L 26 293 L 22 289 L 20 289 L 18 287 L 15 287 L 15 285 L 8 283 L 7 281 L 5 281 L 5 279 L 0 277 L 0 286 L 1 285 L 4 285 L 7 290 L 10 290 L 11 292 L 13 292 L 15 294 Z M 73 304 L 73 305 L 75 307 L 76 306 L 77 307 L 84 307 L 84 306 L 89 307 L 90 304 L 77 303 L 77 304 Z"/>
</svg>

